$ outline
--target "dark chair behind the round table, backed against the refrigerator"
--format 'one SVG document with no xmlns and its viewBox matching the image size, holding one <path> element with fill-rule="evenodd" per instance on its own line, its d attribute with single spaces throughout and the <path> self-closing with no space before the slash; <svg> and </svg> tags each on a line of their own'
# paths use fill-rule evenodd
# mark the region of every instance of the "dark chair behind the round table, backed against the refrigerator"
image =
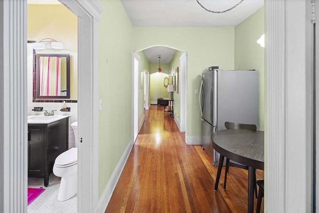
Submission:
<svg viewBox="0 0 319 213">
<path fill-rule="evenodd" d="M 252 131 L 257 130 L 257 127 L 255 124 L 238 124 L 238 123 L 232 123 L 232 122 L 227 122 L 227 121 L 225 122 L 225 127 L 226 127 L 226 129 L 247 129 L 247 130 L 252 130 Z M 229 172 L 229 167 L 237 167 L 237 168 L 248 170 L 247 166 L 239 164 L 235 161 L 229 161 L 229 159 L 226 158 L 224 190 L 226 190 L 227 173 Z M 254 179 L 255 179 L 255 183 L 256 183 L 256 173 L 254 173 Z M 256 186 L 255 186 L 255 197 L 257 198 L 257 187 Z"/>
</svg>

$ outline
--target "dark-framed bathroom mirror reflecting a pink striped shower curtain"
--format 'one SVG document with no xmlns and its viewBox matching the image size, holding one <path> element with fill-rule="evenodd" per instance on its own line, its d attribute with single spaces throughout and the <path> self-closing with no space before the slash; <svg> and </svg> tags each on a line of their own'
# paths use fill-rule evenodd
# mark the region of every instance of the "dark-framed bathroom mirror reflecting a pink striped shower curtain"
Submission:
<svg viewBox="0 0 319 213">
<path fill-rule="evenodd" d="M 70 55 L 35 54 L 35 99 L 70 98 Z"/>
</svg>

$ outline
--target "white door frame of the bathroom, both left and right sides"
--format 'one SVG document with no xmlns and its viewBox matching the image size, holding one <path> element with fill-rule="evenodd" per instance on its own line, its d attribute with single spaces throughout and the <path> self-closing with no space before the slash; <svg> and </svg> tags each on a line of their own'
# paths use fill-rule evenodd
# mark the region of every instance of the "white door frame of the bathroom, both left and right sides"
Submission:
<svg viewBox="0 0 319 213">
<path fill-rule="evenodd" d="M 78 149 L 78 212 L 89 213 L 98 203 L 97 26 L 102 8 L 96 0 L 60 2 L 79 17 L 78 137 L 83 143 Z M 27 212 L 26 1 L 2 0 L 0 13 L 0 67 L 5 70 L 0 72 L 0 191 L 8 193 L 0 194 L 0 212 Z"/>
</svg>

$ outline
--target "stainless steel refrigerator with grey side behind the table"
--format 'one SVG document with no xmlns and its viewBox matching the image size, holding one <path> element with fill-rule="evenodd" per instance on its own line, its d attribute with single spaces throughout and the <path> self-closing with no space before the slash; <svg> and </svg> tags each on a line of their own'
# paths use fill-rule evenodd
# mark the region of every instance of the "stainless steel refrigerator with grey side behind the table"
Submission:
<svg viewBox="0 0 319 213">
<path fill-rule="evenodd" d="M 225 121 L 258 127 L 258 72 L 208 67 L 202 73 L 199 96 L 202 148 L 212 164 L 218 166 L 219 154 L 213 150 L 212 133 L 226 129 Z"/>
</svg>

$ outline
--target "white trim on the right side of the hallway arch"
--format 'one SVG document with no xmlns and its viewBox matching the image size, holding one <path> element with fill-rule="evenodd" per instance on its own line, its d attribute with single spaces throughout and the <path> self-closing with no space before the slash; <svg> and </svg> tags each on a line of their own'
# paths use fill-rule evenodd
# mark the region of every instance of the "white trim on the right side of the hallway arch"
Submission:
<svg viewBox="0 0 319 213">
<path fill-rule="evenodd" d="M 180 131 L 185 132 L 185 137 L 187 135 L 187 52 L 183 52 L 183 54 L 179 58 L 180 63 Z M 185 140 L 186 142 L 186 140 Z M 187 144 L 187 142 L 186 142 Z"/>
</svg>

